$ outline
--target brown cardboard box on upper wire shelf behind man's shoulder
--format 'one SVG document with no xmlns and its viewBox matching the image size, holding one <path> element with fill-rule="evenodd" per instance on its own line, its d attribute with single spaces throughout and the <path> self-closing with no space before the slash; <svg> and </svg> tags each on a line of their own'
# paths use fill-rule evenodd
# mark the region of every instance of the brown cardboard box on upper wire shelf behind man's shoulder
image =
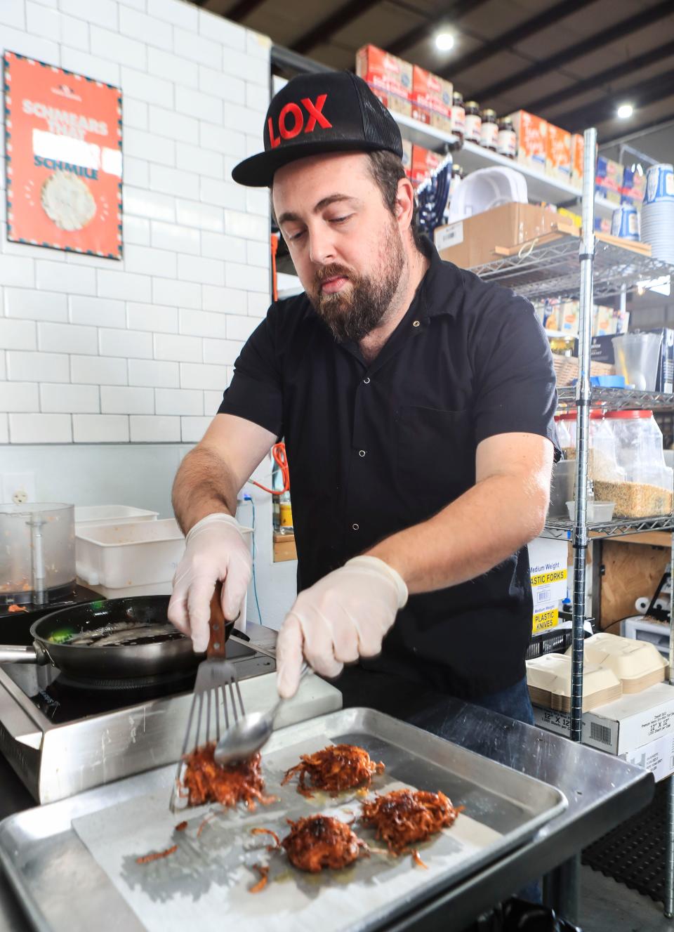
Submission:
<svg viewBox="0 0 674 932">
<path fill-rule="evenodd" d="M 535 204 L 502 204 L 435 230 L 435 248 L 442 259 L 461 268 L 480 266 L 496 258 L 495 246 L 516 246 L 557 228 L 557 214 Z"/>
</svg>

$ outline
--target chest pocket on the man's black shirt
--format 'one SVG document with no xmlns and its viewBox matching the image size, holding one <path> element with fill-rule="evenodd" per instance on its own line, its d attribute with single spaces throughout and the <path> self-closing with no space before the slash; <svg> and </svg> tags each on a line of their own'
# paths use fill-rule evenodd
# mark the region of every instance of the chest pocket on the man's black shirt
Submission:
<svg viewBox="0 0 674 932">
<path fill-rule="evenodd" d="M 397 479 L 408 510 L 423 520 L 475 485 L 468 411 L 406 405 L 397 418 Z"/>
</svg>

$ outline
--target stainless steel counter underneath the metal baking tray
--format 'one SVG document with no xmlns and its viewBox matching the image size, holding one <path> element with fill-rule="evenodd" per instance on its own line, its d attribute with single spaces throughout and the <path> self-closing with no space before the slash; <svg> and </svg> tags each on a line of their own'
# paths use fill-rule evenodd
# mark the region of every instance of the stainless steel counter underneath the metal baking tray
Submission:
<svg viewBox="0 0 674 932">
<path fill-rule="evenodd" d="M 345 705 L 368 705 L 353 698 L 347 692 Z M 585 845 L 637 812 L 653 796 L 653 777 L 645 771 L 458 700 L 443 699 L 424 710 L 422 717 L 417 709 L 409 715 L 400 713 L 399 718 L 423 724 L 450 741 L 560 788 L 569 807 L 530 843 L 390 926 L 396 930 L 442 928 L 444 932 L 460 932 L 494 903 L 580 854 Z M 0 760 L 0 816 L 32 804 L 7 763 Z M 0 877 L 0 932 L 29 928 L 7 881 Z"/>
</svg>

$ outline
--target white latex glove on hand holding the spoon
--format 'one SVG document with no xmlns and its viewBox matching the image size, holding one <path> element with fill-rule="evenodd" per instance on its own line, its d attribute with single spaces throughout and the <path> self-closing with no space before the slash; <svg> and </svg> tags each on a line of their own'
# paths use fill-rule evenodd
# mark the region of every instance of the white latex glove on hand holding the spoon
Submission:
<svg viewBox="0 0 674 932">
<path fill-rule="evenodd" d="M 403 578 L 377 556 L 354 556 L 305 589 L 276 642 L 279 694 L 295 695 L 302 654 L 316 673 L 330 678 L 359 657 L 376 656 L 406 601 Z"/>
</svg>

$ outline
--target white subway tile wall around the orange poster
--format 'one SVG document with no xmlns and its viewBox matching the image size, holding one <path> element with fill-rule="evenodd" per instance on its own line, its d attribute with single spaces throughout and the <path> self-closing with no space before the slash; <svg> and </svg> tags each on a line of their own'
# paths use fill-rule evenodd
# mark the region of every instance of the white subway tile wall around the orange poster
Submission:
<svg viewBox="0 0 674 932">
<path fill-rule="evenodd" d="M 0 444 L 194 443 L 268 306 L 268 193 L 230 171 L 262 145 L 269 41 L 183 0 L 6 0 L 0 24 L 121 87 L 124 123 L 122 261 L 0 236 Z"/>
</svg>

